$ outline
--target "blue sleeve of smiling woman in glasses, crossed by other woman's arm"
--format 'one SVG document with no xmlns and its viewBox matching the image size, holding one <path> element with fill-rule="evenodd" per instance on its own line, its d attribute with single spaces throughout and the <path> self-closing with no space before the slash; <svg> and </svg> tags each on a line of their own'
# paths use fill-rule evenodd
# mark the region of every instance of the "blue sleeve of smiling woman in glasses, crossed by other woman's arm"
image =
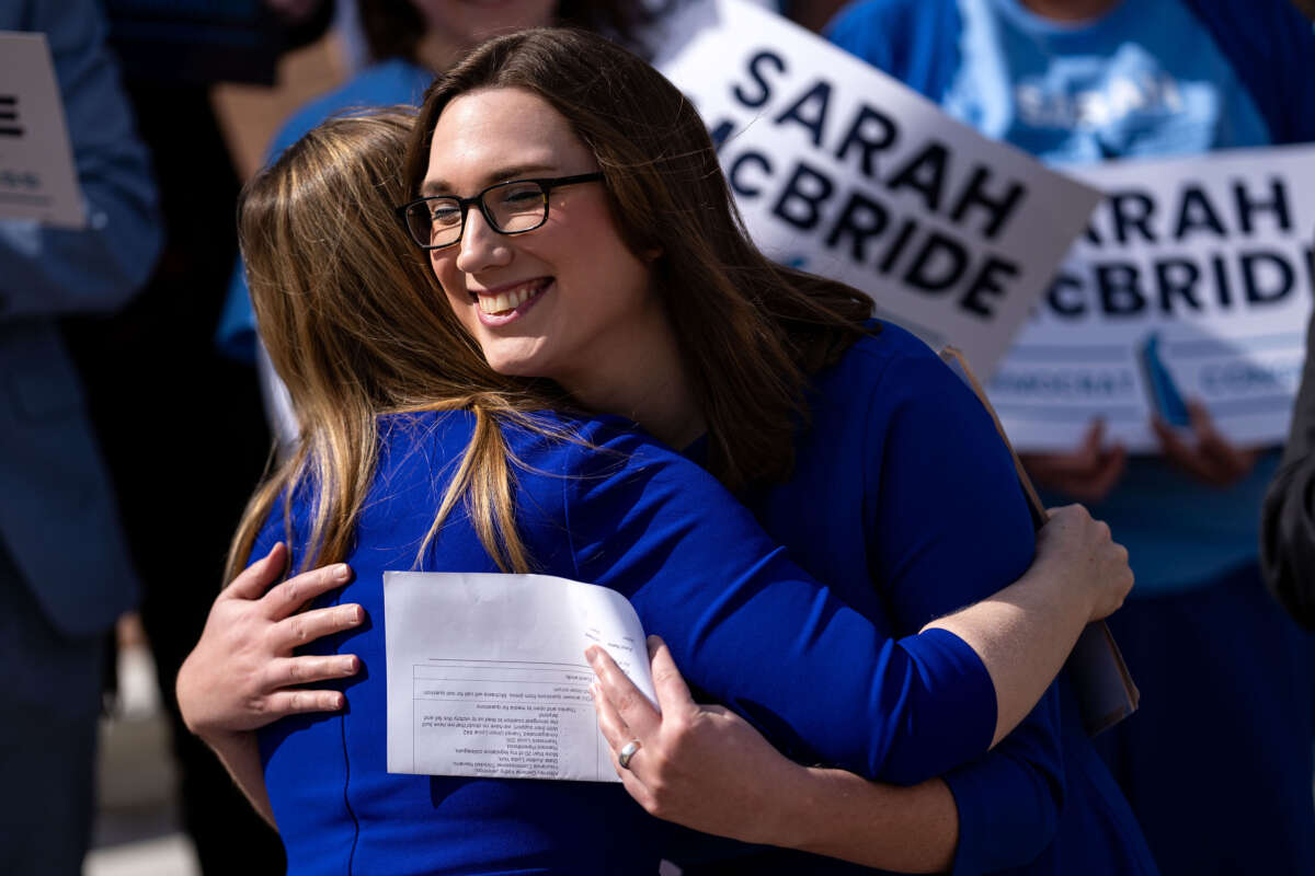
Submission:
<svg viewBox="0 0 1315 876">
<path fill-rule="evenodd" d="M 981 600 L 1031 565 L 1013 458 L 963 382 L 930 355 L 893 360 L 868 418 L 874 575 L 911 628 Z M 1057 690 L 990 754 L 944 776 L 959 808 L 956 873 L 1032 860 L 1064 800 Z"/>
</svg>

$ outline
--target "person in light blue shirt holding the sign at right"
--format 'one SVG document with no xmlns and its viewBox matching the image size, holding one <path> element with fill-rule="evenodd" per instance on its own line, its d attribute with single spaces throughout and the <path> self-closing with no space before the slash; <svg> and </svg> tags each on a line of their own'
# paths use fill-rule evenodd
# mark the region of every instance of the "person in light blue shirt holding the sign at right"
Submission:
<svg viewBox="0 0 1315 876">
<path fill-rule="evenodd" d="M 1315 141 L 1315 33 L 1287 0 L 859 0 L 830 38 L 1059 167 Z M 1130 89 L 1144 100 L 1111 97 Z M 1257 563 L 1278 454 L 1231 447 L 1190 407 L 1190 433 L 1153 423 L 1160 456 L 1103 447 L 1093 424 L 1024 465 L 1131 554 L 1111 626 L 1141 708 L 1098 742 L 1164 872 L 1311 873 L 1315 644 Z"/>
</svg>

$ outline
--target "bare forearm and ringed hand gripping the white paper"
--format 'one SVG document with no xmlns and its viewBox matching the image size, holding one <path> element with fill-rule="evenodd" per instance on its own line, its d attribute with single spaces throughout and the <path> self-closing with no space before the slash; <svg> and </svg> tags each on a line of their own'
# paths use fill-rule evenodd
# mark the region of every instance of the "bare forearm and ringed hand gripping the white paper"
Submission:
<svg viewBox="0 0 1315 876">
<path fill-rule="evenodd" d="M 939 779 L 913 788 L 852 772 L 802 767 L 719 705 L 689 695 L 671 651 L 648 638 L 661 712 L 606 651 L 586 657 L 598 674 L 592 692 L 598 726 L 626 791 L 650 814 L 750 843 L 797 848 L 906 873 L 949 868 L 957 810 Z M 629 768 L 617 753 L 638 739 Z"/>
</svg>

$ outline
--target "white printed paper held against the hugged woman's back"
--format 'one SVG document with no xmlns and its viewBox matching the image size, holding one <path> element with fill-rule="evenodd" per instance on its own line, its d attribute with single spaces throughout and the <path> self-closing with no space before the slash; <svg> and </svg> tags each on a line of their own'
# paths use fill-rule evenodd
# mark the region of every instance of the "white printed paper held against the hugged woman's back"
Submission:
<svg viewBox="0 0 1315 876">
<path fill-rule="evenodd" d="M 384 573 L 388 771 L 618 781 L 584 650 L 656 703 L 639 616 L 614 590 L 548 575 Z"/>
</svg>

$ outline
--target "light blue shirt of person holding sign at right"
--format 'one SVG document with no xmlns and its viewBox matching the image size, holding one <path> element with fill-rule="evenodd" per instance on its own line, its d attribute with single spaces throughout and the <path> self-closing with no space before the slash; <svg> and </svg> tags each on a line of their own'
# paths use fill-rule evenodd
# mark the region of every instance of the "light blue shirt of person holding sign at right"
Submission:
<svg viewBox="0 0 1315 876">
<path fill-rule="evenodd" d="M 1274 120 L 1239 74 L 1245 67 L 1220 47 L 1224 28 L 1245 13 L 1233 0 L 1123 0 L 1094 21 L 1061 24 L 1022 0 L 860 0 L 830 35 L 960 121 L 1063 168 L 1274 142 Z M 1227 45 L 1236 55 L 1255 42 L 1241 34 Z M 1135 595 L 1253 562 L 1276 465 L 1266 454 L 1219 490 L 1159 457 L 1135 457 L 1109 500 L 1091 506 L 1128 548 Z"/>
</svg>

